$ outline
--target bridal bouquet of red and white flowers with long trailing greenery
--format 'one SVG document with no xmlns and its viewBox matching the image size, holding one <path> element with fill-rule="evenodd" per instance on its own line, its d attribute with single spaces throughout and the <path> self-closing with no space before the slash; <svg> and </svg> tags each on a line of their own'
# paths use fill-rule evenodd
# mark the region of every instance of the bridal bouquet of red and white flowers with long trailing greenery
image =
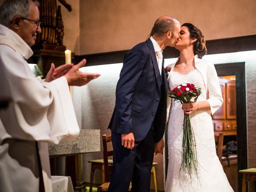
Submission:
<svg viewBox="0 0 256 192">
<path fill-rule="evenodd" d="M 198 96 L 201 94 L 201 88 L 195 87 L 193 84 L 181 84 L 174 88 L 168 96 L 174 98 L 174 101 L 179 100 L 181 103 L 188 103 L 192 98 L 196 102 Z M 184 172 L 187 170 L 188 174 L 192 175 L 193 170 L 197 175 L 197 156 L 196 143 L 193 128 L 190 124 L 189 115 L 184 113 L 183 120 L 183 136 L 182 136 L 182 162 L 181 168 Z"/>
</svg>

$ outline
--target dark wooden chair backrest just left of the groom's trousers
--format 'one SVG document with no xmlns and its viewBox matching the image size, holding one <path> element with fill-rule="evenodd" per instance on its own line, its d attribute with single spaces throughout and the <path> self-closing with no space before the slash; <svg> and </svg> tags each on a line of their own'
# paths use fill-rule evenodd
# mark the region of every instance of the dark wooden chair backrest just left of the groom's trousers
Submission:
<svg viewBox="0 0 256 192">
<path fill-rule="evenodd" d="M 110 182 L 109 172 L 112 170 L 112 165 L 108 164 L 108 157 L 113 156 L 113 150 L 108 150 L 107 146 L 107 143 L 111 141 L 111 135 L 102 134 L 105 182 Z"/>
</svg>

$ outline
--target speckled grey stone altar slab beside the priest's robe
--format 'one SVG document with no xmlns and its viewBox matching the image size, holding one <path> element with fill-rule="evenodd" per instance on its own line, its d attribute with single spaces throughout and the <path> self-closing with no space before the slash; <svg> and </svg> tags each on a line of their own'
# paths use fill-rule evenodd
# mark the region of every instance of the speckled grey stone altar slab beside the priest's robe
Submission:
<svg viewBox="0 0 256 192">
<path fill-rule="evenodd" d="M 82 129 L 74 141 L 61 141 L 59 144 L 48 144 L 49 156 L 70 156 L 100 151 L 100 130 Z"/>
</svg>

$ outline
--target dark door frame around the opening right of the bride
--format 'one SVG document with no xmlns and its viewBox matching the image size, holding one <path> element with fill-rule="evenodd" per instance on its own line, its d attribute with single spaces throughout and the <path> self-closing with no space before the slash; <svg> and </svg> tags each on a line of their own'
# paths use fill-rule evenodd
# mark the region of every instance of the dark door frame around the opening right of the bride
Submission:
<svg viewBox="0 0 256 192">
<path fill-rule="evenodd" d="M 247 168 L 246 80 L 245 62 L 215 64 L 218 76 L 236 76 L 237 168 Z M 238 191 L 242 191 L 242 174 L 238 174 Z"/>
</svg>

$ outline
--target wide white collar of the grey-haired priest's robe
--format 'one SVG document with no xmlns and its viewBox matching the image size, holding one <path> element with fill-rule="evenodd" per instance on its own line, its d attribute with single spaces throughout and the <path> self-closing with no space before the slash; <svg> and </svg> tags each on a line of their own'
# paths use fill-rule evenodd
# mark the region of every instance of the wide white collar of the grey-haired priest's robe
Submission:
<svg viewBox="0 0 256 192">
<path fill-rule="evenodd" d="M 14 31 L 0 24 L 0 44 L 8 45 L 19 52 L 26 60 L 33 55 L 33 51 L 26 42 Z"/>
</svg>

